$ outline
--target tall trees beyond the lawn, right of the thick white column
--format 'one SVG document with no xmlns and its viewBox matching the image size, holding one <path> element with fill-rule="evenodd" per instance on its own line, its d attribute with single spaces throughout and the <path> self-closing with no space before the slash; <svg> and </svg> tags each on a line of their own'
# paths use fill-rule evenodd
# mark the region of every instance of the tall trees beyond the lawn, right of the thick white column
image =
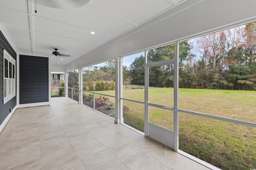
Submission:
<svg viewBox="0 0 256 170">
<path fill-rule="evenodd" d="M 179 87 L 256 90 L 256 23 L 179 43 Z M 175 57 L 175 44 L 148 51 L 147 62 Z M 124 79 L 144 83 L 144 56 L 123 67 Z M 150 67 L 149 82 L 173 87 L 173 65 Z"/>
</svg>

